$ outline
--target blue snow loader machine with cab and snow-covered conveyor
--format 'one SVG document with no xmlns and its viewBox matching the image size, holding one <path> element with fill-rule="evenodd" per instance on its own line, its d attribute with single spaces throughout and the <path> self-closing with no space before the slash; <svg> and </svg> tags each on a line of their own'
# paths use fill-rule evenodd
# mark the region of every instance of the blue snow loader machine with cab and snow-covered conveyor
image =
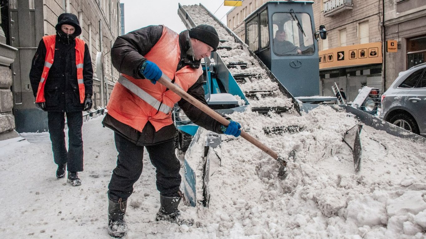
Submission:
<svg viewBox="0 0 426 239">
<path fill-rule="evenodd" d="M 221 114 L 255 111 L 265 117 L 268 114 L 301 115 L 318 107 L 319 102 L 336 100 L 336 97 L 317 96 L 320 82 L 317 40 L 324 39 L 326 31 L 324 26 L 315 30 L 313 3 L 270 1 L 263 4 L 245 20 L 245 41 L 202 4 L 178 5 L 178 15 L 188 29 L 208 24 L 215 27 L 219 34 L 217 51 L 201 61 L 205 99 L 210 108 Z M 286 31 L 287 38 L 292 39 L 291 42 L 300 52 L 278 52 L 273 46 L 274 34 L 278 30 Z M 330 107 L 354 114 L 363 124 L 389 134 L 414 140 L 422 138 L 351 106 Z M 185 199 L 192 206 L 208 206 L 210 157 L 215 154 L 212 149 L 220 146 L 221 135 L 209 132 L 205 136 L 204 129 L 193 124 L 178 105 L 173 110 L 173 121 L 178 129 L 175 146 L 186 152 L 183 177 Z M 354 152 L 355 171 L 360 168 L 361 128 L 362 125 L 355 125 L 344 136 Z M 263 127 L 265 134 L 302 130 L 298 125 Z M 202 155 L 198 155 L 199 150 L 191 151 L 192 146 L 199 142 L 204 144 Z M 202 172 L 197 172 L 196 165 L 189 162 L 194 158 L 202 161 Z"/>
</svg>

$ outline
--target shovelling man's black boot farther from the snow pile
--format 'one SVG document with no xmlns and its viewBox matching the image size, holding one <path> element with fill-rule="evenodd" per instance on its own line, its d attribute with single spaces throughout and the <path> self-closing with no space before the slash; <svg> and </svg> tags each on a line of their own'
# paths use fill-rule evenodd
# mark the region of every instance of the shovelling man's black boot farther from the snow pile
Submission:
<svg viewBox="0 0 426 239">
<path fill-rule="evenodd" d="M 121 202 L 114 202 L 108 200 L 108 233 L 115 238 L 122 238 L 127 233 L 127 223 L 124 221 L 124 214 L 126 214 L 127 200 Z"/>
</svg>

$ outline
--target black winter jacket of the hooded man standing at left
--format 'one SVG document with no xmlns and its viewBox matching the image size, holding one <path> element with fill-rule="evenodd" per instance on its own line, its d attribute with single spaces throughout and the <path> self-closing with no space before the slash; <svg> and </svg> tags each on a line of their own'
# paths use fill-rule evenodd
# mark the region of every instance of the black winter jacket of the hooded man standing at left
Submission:
<svg viewBox="0 0 426 239">
<path fill-rule="evenodd" d="M 68 41 L 60 39 L 60 36 L 57 34 L 55 40 L 55 57 L 44 86 L 46 111 L 82 111 L 84 105 L 80 103 L 80 92 L 78 90 L 77 67 L 75 65 L 75 40 Z M 29 73 L 34 97 L 37 95 L 45 58 L 46 46 L 42 39 L 38 44 Z M 87 44 L 84 44 L 83 82 L 85 95 L 92 96 L 93 68 Z"/>
</svg>

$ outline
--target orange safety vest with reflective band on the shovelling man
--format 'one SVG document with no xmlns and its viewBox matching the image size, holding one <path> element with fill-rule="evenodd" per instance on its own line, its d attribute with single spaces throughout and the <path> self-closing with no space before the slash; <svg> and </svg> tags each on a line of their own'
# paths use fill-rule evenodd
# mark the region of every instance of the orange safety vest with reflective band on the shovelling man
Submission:
<svg viewBox="0 0 426 239">
<path fill-rule="evenodd" d="M 180 60 L 179 35 L 163 26 L 160 40 L 144 56 L 157 64 L 163 74 L 174 79 L 174 84 L 187 91 L 202 74 L 201 68 L 186 65 L 176 72 Z M 112 89 L 107 109 L 118 121 L 142 132 L 148 121 L 155 131 L 173 124 L 171 111 L 181 99 L 161 83 L 153 84 L 147 79 L 135 79 L 121 74 Z"/>
</svg>

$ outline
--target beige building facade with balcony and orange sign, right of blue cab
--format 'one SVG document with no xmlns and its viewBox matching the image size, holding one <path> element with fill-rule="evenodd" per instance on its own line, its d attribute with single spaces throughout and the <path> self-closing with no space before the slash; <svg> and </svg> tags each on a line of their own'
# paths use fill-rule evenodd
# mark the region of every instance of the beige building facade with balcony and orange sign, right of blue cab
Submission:
<svg viewBox="0 0 426 239">
<path fill-rule="evenodd" d="M 382 87 L 382 4 L 377 0 L 315 0 L 314 18 L 327 29 L 320 41 L 320 87 L 336 84 L 351 102 L 363 86 Z"/>
</svg>

